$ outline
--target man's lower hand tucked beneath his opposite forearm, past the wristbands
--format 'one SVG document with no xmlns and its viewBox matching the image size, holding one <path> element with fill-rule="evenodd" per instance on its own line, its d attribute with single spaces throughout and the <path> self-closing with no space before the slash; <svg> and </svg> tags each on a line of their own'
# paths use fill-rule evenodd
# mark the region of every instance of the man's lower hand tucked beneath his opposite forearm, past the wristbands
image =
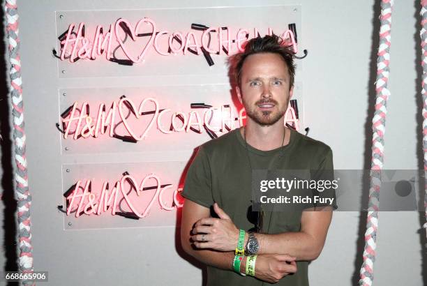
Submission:
<svg viewBox="0 0 427 286">
<path fill-rule="evenodd" d="M 297 272 L 295 257 L 287 254 L 265 254 L 257 255 L 255 262 L 255 277 L 269 283 L 278 281 Z"/>
</svg>

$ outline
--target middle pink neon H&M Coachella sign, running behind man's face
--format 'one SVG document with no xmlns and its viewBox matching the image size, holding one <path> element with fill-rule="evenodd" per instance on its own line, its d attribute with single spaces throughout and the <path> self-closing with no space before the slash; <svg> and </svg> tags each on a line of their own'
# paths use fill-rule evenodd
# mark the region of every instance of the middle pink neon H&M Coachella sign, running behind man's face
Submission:
<svg viewBox="0 0 427 286">
<path fill-rule="evenodd" d="M 105 133 L 114 137 L 117 135 L 115 129 L 119 126 L 122 126 L 123 131 L 126 132 L 122 136 L 130 136 L 135 141 L 144 140 L 152 132 L 153 127 L 164 134 L 188 133 L 190 130 L 204 133 L 208 132 L 207 129 L 213 133 L 226 132 L 226 130 L 243 126 L 246 119 L 244 109 L 239 110 L 237 115 L 234 114 L 230 105 L 190 112 L 173 112 L 169 108 L 160 109 L 156 98 L 144 98 L 140 105 L 136 105 L 130 98 L 122 97 L 118 103 L 114 101 L 108 110 L 105 103 L 101 103 L 97 109 L 98 114 L 94 117 L 89 110 L 93 108 L 89 108 L 87 102 L 80 104 L 76 101 L 73 104 L 69 114 L 61 118 L 64 139 L 68 139 L 70 135 L 73 136 L 73 140 L 80 137 L 98 138 Z M 147 112 L 147 110 L 150 111 Z M 144 120 L 143 116 L 145 116 Z M 285 123 L 290 123 L 297 131 L 299 130 L 299 119 L 291 105 L 285 113 Z M 142 124 L 145 126 L 141 126 Z"/>
</svg>

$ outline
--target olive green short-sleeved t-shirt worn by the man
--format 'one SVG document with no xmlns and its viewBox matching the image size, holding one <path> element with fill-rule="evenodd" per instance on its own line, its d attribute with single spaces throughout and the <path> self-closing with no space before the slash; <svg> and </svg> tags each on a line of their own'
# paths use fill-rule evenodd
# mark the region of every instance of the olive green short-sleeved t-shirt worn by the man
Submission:
<svg viewBox="0 0 427 286">
<path fill-rule="evenodd" d="M 290 142 L 269 151 L 261 151 L 246 144 L 239 128 L 202 144 L 188 168 L 183 197 L 207 208 L 217 202 L 237 228 L 246 231 L 253 228 L 254 223 L 250 222 L 249 214 L 252 205 L 252 170 L 312 170 L 312 176 L 320 176 L 323 170 L 334 170 L 332 151 L 327 144 L 301 135 L 296 130 L 289 130 Z M 264 233 L 299 232 L 301 213 L 294 209 L 266 213 L 269 223 L 268 231 Z M 240 276 L 212 266 L 207 266 L 207 272 L 209 286 L 269 285 L 257 278 Z M 308 262 L 297 262 L 297 273 L 285 276 L 276 285 L 307 286 Z"/>
</svg>

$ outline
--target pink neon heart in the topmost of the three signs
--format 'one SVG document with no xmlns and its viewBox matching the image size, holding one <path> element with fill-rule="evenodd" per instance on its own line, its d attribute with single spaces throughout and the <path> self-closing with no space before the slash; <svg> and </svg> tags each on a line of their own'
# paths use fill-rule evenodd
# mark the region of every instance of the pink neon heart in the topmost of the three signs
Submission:
<svg viewBox="0 0 427 286">
<path fill-rule="evenodd" d="M 132 54 L 130 54 L 130 52 L 126 49 L 126 47 L 123 43 L 123 40 L 121 40 L 121 38 L 119 37 L 119 29 L 121 29 L 121 27 L 120 27 L 121 23 L 126 24 L 128 29 L 130 30 L 130 37 L 134 41 L 135 41 L 135 38 L 137 37 L 136 35 L 138 34 L 137 31 L 140 29 L 140 25 L 142 23 L 151 24 L 151 28 L 152 28 L 151 37 L 150 37 L 147 45 L 145 45 L 144 49 L 142 50 L 140 56 L 137 57 L 137 59 L 135 59 L 132 56 Z M 151 47 L 153 45 L 154 38 L 156 37 L 156 23 L 154 23 L 153 20 L 151 20 L 150 18 L 144 17 L 140 21 L 137 22 L 135 29 L 133 29 L 132 24 L 130 24 L 130 22 L 128 22 L 128 20 L 120 18 L 119 20 L 116 21 L 116 24 L 114 24 L 114 33 L 116 34 L 117 42 L 119 42 L 119 45 L 120 45 L 121 49 L 123 50 L 123 52 L 126 54 L 126 57 L 128 57 L 134 63 L 140 63 L 140 61 L 142 61 L 142 59 L 144 59 L 144 55 L 147 52 L 147 50 L 149 49 L 149 47 Z"/>
</svg>

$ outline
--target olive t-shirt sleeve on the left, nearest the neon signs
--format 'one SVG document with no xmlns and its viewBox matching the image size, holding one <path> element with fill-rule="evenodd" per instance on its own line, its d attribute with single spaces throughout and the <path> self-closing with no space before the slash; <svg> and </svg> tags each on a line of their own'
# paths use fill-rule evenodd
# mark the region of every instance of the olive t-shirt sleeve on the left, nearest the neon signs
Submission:
<svg viewBox="0 0 427 286">
<path fill-rule="evenodd" d="M 188 167 L 181 195 L 207 208 L 213 205 L 211 167 L 203 146 L 199 146 Z"/>
</svg>

